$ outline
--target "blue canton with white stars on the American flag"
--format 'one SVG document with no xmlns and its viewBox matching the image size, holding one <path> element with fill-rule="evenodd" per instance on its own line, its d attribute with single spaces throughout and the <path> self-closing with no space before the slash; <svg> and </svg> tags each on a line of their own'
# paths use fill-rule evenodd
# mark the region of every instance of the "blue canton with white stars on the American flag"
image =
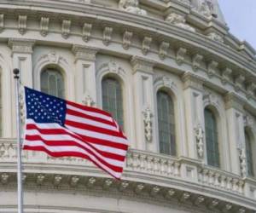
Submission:
<svg viewBox="0 0 256 213">
<path fill-rule="evenodd" d="M 36 123 L 57 123 L 64 126 L 66 101 L 29 88 L 25 88 L 25 94 L 26 118 L 32 118 Z"/>
</svg>

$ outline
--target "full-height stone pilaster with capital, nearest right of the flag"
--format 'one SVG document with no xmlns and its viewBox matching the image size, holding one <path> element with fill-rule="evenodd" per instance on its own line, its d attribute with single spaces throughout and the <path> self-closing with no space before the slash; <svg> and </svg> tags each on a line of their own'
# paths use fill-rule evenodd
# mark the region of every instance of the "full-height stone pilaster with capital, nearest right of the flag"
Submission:
<svg viewBox="0 0 256 213">
<path fill-rule="evenodd" d="M 133 66 L 134 116 L 136 130 L 136 148 L 153 151 L 157 150 L 155 139 L 153 62 L 134 56 Z"/>
</svg>

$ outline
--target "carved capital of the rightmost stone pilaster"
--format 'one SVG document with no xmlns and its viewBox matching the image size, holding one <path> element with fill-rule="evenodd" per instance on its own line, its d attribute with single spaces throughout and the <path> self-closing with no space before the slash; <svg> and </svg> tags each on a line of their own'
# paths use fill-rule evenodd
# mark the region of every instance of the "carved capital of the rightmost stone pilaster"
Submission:
<svg viewBox="0 0 256 213">
<path fill-rule="evenodd" d="M 225 101 L 225 108 L 230 109 L 230 108 L 235 108 L 236 110 L 243 112 L 243 105 L 244 101 L 236 95 L 235 93 L 227 93 L 224 96 L 224 101 Z"/>
</svg>

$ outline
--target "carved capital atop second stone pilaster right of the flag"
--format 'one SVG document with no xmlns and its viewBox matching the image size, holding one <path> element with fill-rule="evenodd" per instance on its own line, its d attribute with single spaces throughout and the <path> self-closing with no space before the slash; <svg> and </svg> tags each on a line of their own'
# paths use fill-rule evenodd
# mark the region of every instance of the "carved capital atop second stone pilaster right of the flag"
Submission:
<svg viewBox="0 0 256 213">
<path fill-rule="evenodd" d="M 183 89 L 196 89 L 199 91 L 203 91 L 203 78 L 196 76 L 190 72 L 186 72 L 183 74 Z"/>
</svg>

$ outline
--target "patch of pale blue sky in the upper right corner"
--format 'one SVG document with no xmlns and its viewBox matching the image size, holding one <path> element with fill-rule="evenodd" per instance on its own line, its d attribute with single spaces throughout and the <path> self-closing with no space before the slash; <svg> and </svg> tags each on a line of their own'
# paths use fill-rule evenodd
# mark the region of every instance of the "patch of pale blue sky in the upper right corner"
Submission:
<svg viewBox="0 0 256 213">
<path fill-rule="evenodd" d="M 218 0 L 231 34 L 256 49 L 256 0 Z"/>
</svg>

